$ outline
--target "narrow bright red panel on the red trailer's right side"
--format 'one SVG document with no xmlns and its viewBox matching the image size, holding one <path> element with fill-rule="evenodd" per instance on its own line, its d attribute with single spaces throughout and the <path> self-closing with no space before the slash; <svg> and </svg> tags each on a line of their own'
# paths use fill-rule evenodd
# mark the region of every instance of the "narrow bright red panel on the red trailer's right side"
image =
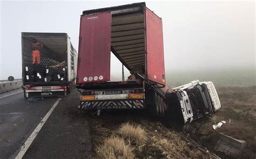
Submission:
<svg viewBox="0 0 256 159">
<path fill-rule="evenodd" d="M 145 17 L 147 78 L 153 82 L 165 85 L 162 20 L 148 8 L 145 10 Z"/>
</svg>

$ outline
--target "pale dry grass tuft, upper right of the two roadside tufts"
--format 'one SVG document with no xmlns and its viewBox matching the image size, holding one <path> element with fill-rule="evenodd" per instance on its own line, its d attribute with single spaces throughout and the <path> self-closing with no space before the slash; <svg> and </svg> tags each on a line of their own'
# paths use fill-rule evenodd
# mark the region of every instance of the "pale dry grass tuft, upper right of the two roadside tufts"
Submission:
<svg viewBox="0 0 256 159">
<path fill-rule="evenodd" d="M 122 124 L 117 130 L 117 133 L 121 135 L 129 144 L 141 149 L 146 141 L 146 132 L 140 125 L 130 124 L 126 122 Z"/>
</svg>

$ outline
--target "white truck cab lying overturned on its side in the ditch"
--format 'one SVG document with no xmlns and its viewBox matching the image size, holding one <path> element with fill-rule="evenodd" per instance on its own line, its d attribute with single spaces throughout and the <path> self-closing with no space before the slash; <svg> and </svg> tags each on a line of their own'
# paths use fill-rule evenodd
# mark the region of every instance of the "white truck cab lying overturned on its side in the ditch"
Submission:
<svg viewBox="0 0 256 159">
<path fill-rule="evenodd" d="M 220 109 L 220 100 L 215 86 L 212 82 L 191 83 L 173 88 L 169 93 L 172 115 L 183 115 L 184 124 L 195 119 L 211 116 Z M 180 113 L 177 113 L 180 112 Z M 178 116 L 178 117 L 179 117 Z"/>
</svg>

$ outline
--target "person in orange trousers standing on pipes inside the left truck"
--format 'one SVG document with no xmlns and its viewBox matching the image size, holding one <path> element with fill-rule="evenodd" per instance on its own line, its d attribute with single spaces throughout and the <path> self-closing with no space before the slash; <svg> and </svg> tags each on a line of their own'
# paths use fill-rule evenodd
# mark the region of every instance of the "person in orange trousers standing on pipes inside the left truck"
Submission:
<svg viewBox="0 0 256 159">
<path fill-rule="evenodd" d="M 32 50 L 32 64 L 35 64 L 37 61 L 37 64 L 41 63 L 41 56 L 39 49 L 43 47 L 43 44 L 36 39 L 33 39 L 33 43 L 30 45 L 30 48 Z"/>
</svg>

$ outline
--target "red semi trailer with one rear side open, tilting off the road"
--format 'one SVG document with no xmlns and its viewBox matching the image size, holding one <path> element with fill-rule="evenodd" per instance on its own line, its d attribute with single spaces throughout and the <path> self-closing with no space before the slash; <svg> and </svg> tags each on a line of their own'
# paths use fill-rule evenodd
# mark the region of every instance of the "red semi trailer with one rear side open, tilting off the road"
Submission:
<svg viewBox="0 0 256 159">
<path fill-rule="evenodd" d="M 110 81 L 111 52 L 130 71 Z M 162 20 L 145 3 L 83 11 L 80 17 L 77 88 L 80 109 L 147 109 L 164 115 Z"/>
</svg>

